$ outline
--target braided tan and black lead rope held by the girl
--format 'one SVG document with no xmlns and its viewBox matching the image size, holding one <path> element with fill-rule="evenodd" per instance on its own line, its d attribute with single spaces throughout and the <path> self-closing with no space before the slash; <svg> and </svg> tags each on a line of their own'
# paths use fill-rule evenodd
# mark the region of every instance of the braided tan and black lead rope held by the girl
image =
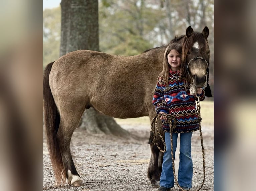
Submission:
<svg viewBox="0 0 256 191">
<path fill-rule="evenodd" d="M 203 135 L 202 135 L 202 130 L 201 130 L 201 116 L 200 116 L 200 97 L 198 97 L 198 101 L 197 101 L 197 112 L 198 112 L 198 122 L 199 122 L 199 132 L 200 132 L 200 138 L 201 138 L 201 147 L 202 147 L 202 156 L 203 156 L 203 171 L 204 171 L 204 176 L 203 176 L 203 182 L 200 186 L 200 188 L 197 190 L 201 190 L 201 188 L 203 187 L 204 183 L 205 183 L 205 150 L 204 150 L 204 145 L 203 145 Z M 174 156 L 173 156 L 173 142 L 172 142 L 172 131 L 173 129 L 175 129 L 176 124 L 177 124 L 177 120 L 175 117 L 167 115 L 166 113 L 162 113 L 162 114 L 156 114 L 154 116 L 154 118 L 152 119 L 151 122 L 151 127 L 150 127 L 150 138 L 149 138 L 149 144 L 155 144 L 157 146 L 157 148 L 161 151 L 161 152 L 165 152 L 166 151 L 166 144 L 165 141 L 163 140 L 163 137 L 161 135 L 161 133 L 158 130 L 157 127 L 157 118 L 160 118 L 161 116 L 165 116 L 167 118 L 167 122 L 170 124 L 170 137 L 171 137 L 171 158 L 172 158 L 172 170 L 173 170 L 173 175 L 174 175 L 174 179 L 176 181 L 177 186 L 180 188 L 180 190 L 184 191 L 178 183 L 176 174 L 175 174 L 175 164 L 174 164 Z M 156 141 L 156 135 L 155 132 L 157 132 L 157 134 L 159 135 L 159 137 L 161 138 L 162 144 L 164 145 L 164 150 L 162 150 L 160 148 L 160 146 L 158 145 L 158 142 Z"/>
</svg>

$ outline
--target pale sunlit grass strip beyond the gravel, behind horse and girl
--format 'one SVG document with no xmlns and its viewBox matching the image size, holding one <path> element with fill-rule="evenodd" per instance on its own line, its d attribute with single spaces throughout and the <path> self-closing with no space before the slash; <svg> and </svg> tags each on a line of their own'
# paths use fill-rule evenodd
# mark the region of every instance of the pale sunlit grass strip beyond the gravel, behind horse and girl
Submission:
<svg viewBox="0 0 256 191">
<path fill-rule="evenodd" d="M 202 126 L 213 126 L 213 101 L 202 101 L 201 106 L 201 118 Z M 150 126 L 149 117 L 138 117 L 129 119 L 117 119 L 115 121 L 120 125 L 148 125 Z"/>
</svg>

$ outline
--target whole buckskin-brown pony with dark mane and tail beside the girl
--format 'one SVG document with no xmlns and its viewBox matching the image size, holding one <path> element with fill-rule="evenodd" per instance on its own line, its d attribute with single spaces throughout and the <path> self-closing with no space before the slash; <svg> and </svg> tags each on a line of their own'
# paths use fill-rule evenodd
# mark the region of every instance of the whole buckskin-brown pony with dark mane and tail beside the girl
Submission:
<svg viewBox="0 0 256 191">
<path fill-rule="evenodd" d="M 189 63 L 188 72 L 195 86 L 208 84 L 209 29 L 175 36 L 170 43 L 183 45 L 182 62 Z M 135 56 L 116 56 L 91 50 L 77 50 L 48 64 L 43 74 L 43 107 L 49 155 L 57 183 L 83 185 L 74 165 L 70 141 L 80 118 L 93 107 L 115 118 L 156 115 L 152 98 L 157 77 L 163 68 L 167 45 Z M 199 59 L 195 59 L 200 57 Z M 205 62 L 205 61 L 206 62 Z M 160 179 L 162 153 L 150 145 L 148 177 L 152 184 Z"/>
</svg>

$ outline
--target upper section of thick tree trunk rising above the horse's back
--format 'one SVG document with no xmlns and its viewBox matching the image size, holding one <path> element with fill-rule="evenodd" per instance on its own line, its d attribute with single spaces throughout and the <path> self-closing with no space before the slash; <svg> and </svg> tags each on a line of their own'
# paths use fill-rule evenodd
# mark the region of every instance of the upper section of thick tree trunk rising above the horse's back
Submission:
<svg viewBox="0 0 256 191">
<path fill-rule="evenodd" d="M 60 56 L 87 49 L 99 51 L 98 1 L 61 1 Z"/>
</svg>

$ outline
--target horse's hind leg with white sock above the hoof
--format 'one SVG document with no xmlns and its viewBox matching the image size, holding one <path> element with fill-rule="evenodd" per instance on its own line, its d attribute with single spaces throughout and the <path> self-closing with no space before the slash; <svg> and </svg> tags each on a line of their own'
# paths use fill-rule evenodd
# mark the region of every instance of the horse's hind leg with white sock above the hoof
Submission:
<svg viewBox="0 0 256 191">
<path fill-rule="evenodd" d="M 74 130 L 76 129 L 81 115 L 85 108 L 80 110 L 60 112 L 61 120 L 57 133 L 57 140 L 61 151 L 61 157 L 65 168 L 65 174 L 68 179 L 68 184 L 73 186 L 84 185 L 81 177 L 79 176 L 76 167 L 74 165 L 71 153 L 70 153 L 70 141 Z"/>
</svg>

